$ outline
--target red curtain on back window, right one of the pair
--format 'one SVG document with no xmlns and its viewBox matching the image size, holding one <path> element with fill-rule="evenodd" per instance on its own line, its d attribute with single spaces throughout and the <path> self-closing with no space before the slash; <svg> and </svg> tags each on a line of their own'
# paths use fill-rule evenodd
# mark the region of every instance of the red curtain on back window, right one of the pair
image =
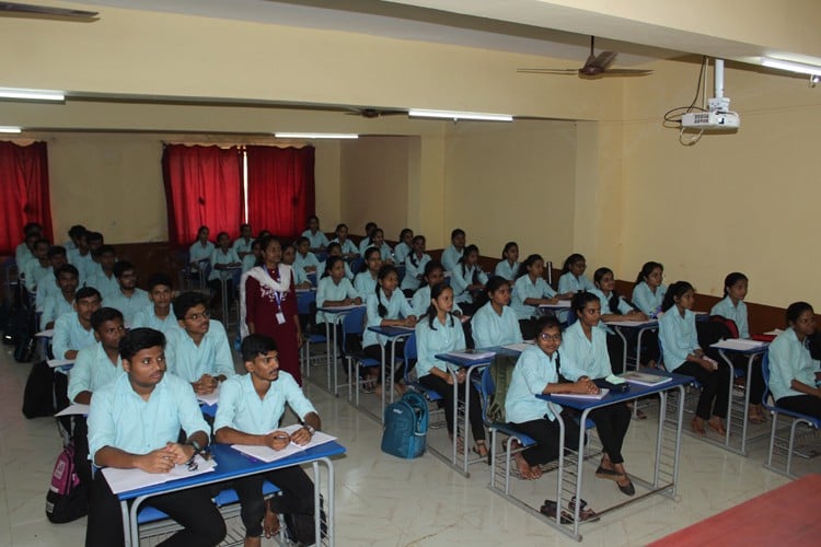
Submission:
<svg viewBox="0 0 821 547">
<path fill-rule="evenodd" d="M 314 148 L 247 147 L 248 222 L 296 237 L 314 213 Z"/>
</svg>

